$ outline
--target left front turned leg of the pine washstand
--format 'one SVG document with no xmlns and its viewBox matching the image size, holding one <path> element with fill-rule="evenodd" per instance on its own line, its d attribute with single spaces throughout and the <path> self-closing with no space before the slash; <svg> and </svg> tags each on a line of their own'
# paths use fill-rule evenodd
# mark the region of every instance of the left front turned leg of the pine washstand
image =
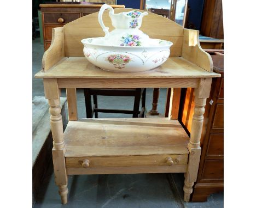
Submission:
<svg viewBox="0 0 256 208">
<path fill-rule="evenodd" d="M 53 135 L 53 164 L 55 183 L 59 186 L 62 204 L 67 203 L 67 173 L 65 164 L 65 143 L 60 107 L 60 90 L 56 79 L 44 80 L 44 93 L 49 102 L 51 134 Z"/>
</svg>

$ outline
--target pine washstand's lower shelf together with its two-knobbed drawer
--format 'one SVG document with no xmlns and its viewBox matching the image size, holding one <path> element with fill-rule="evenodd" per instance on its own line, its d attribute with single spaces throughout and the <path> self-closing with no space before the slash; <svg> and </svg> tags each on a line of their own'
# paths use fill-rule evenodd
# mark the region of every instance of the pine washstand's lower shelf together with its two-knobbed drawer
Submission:
<svg viewBox="0 0 256 208">
<path fill-rule="evenodd" d="M 64 142 L 68 175 L 187 172 L 189 137 L 177 120 L 69 121 Z"/>
</svg>

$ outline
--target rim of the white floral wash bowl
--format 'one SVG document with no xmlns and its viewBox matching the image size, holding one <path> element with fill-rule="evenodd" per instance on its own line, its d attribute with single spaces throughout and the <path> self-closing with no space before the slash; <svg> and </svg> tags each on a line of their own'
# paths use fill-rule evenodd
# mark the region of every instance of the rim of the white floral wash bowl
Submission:
<svg viewBox="0 0 256 208">
<path fill-rule="evenodd" d="M 173 42 L 168 41 L 168 40 L 162 40 L 162 39 L 155 39 L 155 38 L 150 38 L 150 40 L 159 40 L 159 41 L 165 41 L 167 44 L 166 45 L 158 45 L 158 46 L 120 46 L 120 45 L 102 45 L 102 44 L 91 44 L 90 42 L 85 42 L 88 39 L 100 39 L 104 37 L 96 37 L 96 38 L 85 38 L 82 39 L 81 42 L 82 44 L 86 45 L 91 45 L 91 46 L 101 46 L 101 47 L 121 47 L 121 48 L 158 48 L 158 47 L 171 47 L 173 45 Z"/>
</svg>

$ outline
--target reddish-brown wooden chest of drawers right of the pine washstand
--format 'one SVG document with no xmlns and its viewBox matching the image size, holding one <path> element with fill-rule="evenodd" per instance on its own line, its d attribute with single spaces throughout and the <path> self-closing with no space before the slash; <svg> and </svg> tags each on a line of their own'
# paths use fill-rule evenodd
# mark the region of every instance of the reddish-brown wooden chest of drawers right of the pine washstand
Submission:
<svg viewBox="0 0 256 208">
<path fill-rule="evenodd" d="M 221 74 L 213 78 L 210 97 L 206 101 L 205 121 L 201 137 L 202 154 L 199 173 L 194 186 L 192 201 L 206 201 L 208 195 L 223 191 L 223 142 L 224 142 L 224 70 L 222 55 L 211 55 L 213 70 Z M 183 89 L 179 121 L 191 133 L 194 105 L 193 88 Z M 190 134 L 191 135 L 191 134 Z"/>
</svg>

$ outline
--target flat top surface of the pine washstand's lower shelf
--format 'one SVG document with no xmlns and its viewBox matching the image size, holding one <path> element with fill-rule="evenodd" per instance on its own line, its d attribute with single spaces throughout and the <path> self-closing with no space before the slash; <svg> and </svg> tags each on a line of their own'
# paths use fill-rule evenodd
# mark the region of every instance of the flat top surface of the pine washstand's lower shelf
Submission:
<svg viewBox="0 0 256 208">
<path fill-rule="evenodd" d="M 189 137 L 168 118 L 69 121 L 65 157 L 188 154 Z"/>
</svg>

